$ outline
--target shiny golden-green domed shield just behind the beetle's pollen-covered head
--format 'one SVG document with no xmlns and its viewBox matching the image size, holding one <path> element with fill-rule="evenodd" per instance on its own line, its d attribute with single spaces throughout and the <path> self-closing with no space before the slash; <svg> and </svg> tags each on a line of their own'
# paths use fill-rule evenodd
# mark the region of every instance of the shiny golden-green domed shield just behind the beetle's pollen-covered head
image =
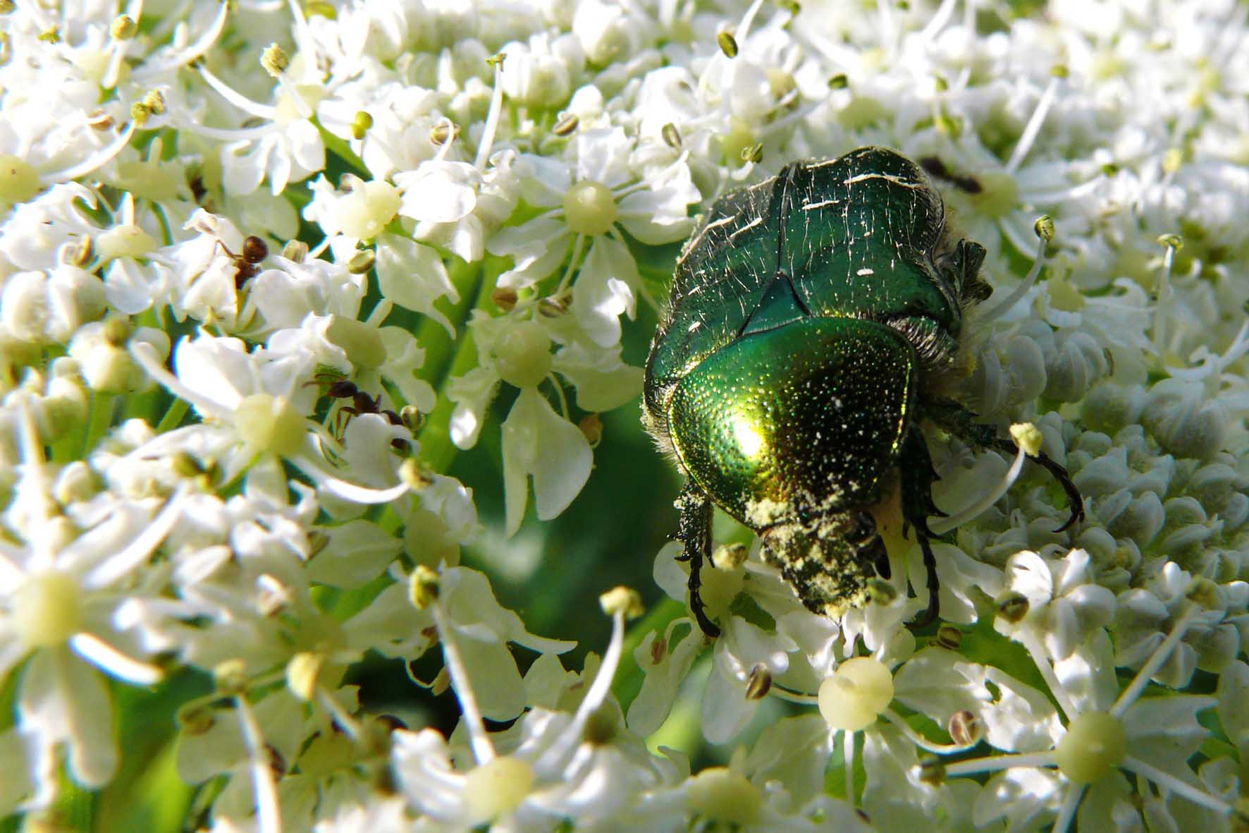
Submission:
<svg viewBox="0 0 1249 833">
<path fill-rule="evenodd" d="M 876 500 L 911 420 L 914 348 L 893 328 L 804 318 L 717 350 L 668 406 L 682 465 L 754 529 Z"/>
</svg>

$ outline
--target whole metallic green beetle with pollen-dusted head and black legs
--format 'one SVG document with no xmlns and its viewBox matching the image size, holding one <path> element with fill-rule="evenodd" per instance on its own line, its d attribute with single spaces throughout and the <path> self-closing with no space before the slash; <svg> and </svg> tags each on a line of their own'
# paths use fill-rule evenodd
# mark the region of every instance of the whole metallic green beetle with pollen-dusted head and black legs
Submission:
<svg viewBox="0 0 1249 833">
<path fill-rule="evenodd" d="M 927 518 L 937 479 L 923 420 L 977 447 L 1014 454 L 989 425 L 940 395 L 958 366 L 964 309 L 992 291 L 984 249 L 949 239 L 940 195 L 913 161 L 886 148 L 796 161 L 718 199 L 677 261 L 646 364 L 643 422 L 686 475 L 677 537 L 691 608 L 712 505 L 756 530 L 764 559 L 807 608 L 841 615 L 888 578 L 878 504 L 898 472 L 936 618 Z M 1083 518 L 1067 470 L 1034 458 Z"/>
</svg>

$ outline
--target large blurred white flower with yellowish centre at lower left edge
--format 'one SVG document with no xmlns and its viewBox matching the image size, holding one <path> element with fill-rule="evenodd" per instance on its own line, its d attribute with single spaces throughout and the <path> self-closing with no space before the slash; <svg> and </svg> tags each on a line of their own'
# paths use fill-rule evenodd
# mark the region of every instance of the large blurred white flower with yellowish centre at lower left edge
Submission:
<svg viewBox="0 0 1249 833">
<path fill-rule="evenodd" d="M 162 677 L 127 655 L 137 645 L 114 615 L 182 505 L 180 494 L 116 502 L 96 523 L 76 527 L 56 509 L 54 472 L 34 419 L 20 408 L 21 477 L 5 522 L 21 543 L 0 544 L 0 679 L 21 667 L 16 724 L 35 788 L 30 805 L 46 807 L 57 793 L 62 752 L 85 787 L 100 787 L 116 772 L 112 703 L 97 669 L 139 685 Z"/>
</svg>

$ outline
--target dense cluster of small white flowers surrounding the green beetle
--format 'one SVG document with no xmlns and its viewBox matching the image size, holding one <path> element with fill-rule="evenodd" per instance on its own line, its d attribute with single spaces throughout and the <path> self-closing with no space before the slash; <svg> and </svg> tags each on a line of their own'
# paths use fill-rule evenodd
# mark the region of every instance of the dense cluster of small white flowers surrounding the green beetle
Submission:
<svg viewBox="0 0 1249 833">
<path fill-rule="evenodd" d="M 1249 9 L 1033 5 L 0 0 L 0 819 L 1243 829 Z M 461 565 L 456 449 L 507 535 L 563 513 L 698 211 L 868 144 L 985 246 L 958 393 L 1085 519 L 933 433 L 934 635 L 912 542 L 834 620 L 717 524 L 718 639 L 671 544 L 566 669 Z M 456 719 L 365 708 L 368 655 Z"/>
</svg>

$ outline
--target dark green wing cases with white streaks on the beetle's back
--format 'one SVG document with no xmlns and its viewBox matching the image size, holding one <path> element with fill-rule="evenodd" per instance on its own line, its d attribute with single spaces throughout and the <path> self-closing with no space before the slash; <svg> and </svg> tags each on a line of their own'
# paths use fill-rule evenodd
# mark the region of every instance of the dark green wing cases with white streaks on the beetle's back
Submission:
<svg viewBox="0 0 1249 833">
<path fill-rule="evenodd" d="M 682 250 L 651 346 L 652 422 L 663 430 L 673 385 L 742 335 L 778 271 L 789 275 L 801 314 L 866 318 L 938 340 L 937 350 L 953 346 L 958 288 L 933 261 L 943 234 L 940 195 L 918 165 L 886 148 L 793 163 L 721 198 Z"/>
</svg>

